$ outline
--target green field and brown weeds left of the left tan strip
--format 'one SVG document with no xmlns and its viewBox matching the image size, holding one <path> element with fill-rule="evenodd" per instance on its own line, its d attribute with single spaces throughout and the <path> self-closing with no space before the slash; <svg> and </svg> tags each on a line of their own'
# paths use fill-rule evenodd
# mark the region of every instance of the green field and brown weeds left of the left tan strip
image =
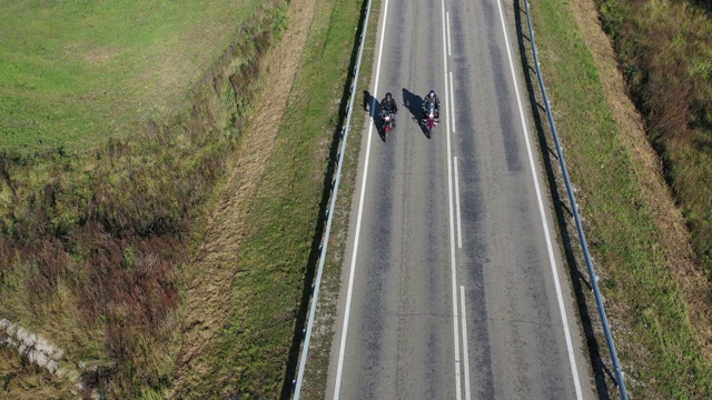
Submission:
<svg viewBox="0 0 712 400">
<path fill-rule="evenodd" d="M 181 266 L 284 7 L 0 2 L 0 314 L 109 397 L 170 388 Z"/>
</svg>

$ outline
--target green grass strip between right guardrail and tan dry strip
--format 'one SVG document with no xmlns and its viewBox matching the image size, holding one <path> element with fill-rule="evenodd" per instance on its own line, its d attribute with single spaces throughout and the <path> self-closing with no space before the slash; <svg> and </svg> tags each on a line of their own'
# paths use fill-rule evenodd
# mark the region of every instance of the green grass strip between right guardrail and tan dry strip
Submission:
<svg viewBox="0 0 712 400">
<path fill-rule="evenodd" d="M 632 397 L 710 398 L 712 373 L 568 1 L 532 3 L 542 70 Z"/>
</svg>

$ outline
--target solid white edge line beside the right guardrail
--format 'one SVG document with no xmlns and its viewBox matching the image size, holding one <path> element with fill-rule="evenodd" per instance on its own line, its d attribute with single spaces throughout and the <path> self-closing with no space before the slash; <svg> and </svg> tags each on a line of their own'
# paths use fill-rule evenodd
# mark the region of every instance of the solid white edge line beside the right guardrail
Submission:
<svg viewBox="0 0 712 400">
<path fill-rule="evenodd" d="M 520 108 L 520 118 L 522 120 L 522 128 L 524 129 L 524 139 L 526 141 L 526 150 L 530 157 L 530 169 L 532 170 L 532 178 L 534 179 L 534 188 L 536 189 L 536 199 L 538 201 L 538 211 L 542 218 L 542 224 L 544 227 L 544 236 L 546 237 L 546 247 L 548 249 L 548 259 L 552 267 L 552 273 L 554 276 L 554 284 L 556 287 L 556 299 L 558 300 L 558 310 L 561 312 L 562 323 L 564 326 L 564 336 L 566 337 L 566 347 L 568 348 L 568 361 L 571 363 L 571 372 L 574 379 L 574 387 L 576 389 L 576 399 L 582 400 L 583 393 L 581 391 L 581 382 L 578 380 L 578 371 L 576 369 L 576 360 L 574 357 L 574 349 L 571 341 L 571 332 L 568 331 L 568 320 L 566 319 L 566 310 L 564 308 L 563 294 L 561 292 L 561 283 L 558 281 L 558 273 L 556 272 L 556 261 L 554 259 L 554 249 L 552 246 L 551 234 L 548 233 L 548 224 L 546 222 L 546 213 L 544 211 L 544 201 L 542 200 L 542 192 L 538 187 L 538 180 L 536 179 L 536 169 L 534 163 L 534 157 L 532 156 L 532 146 L 530 143 L 530 133 L 526 128 L 526 120 L 524 119 L 524 109 L 522 107 L 522 98 L 520 96 L 520 87 L 516 80 L 516 73 L 514 71 L 514 62 L 512 61 L 512 50 L 510 48 L 510 39 L 507 38 L 506 23 L 504 21 L 504 14 L 502 12 L 502 3 L 497 0 L 497 8 L 500 9 L 500 20 L 502 21 L 502 31 L 504 32 L 504 42 L 507 47 L 507 58 L 510 60 L 510 71 L 512 72 L 512 80 L 514 81 L 514 90 L 516 93 L 516 101 Z"/>
</svg>

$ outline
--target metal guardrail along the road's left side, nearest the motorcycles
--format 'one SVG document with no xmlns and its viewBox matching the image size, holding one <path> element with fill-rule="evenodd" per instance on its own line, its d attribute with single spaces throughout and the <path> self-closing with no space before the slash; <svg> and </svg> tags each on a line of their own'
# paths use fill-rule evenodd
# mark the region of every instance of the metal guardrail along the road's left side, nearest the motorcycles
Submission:
<svg viewBox="0 0 712 400">
<path fill-rule="evenodd" d="M 309 320 L 307 322 L 307 329 L 304 336 L 304 346 L 301 348 L 301 360 L 299 361 L 299 371 L 297 373 L 297 379 L 294 380 L 293 382 L 293 387 L 294 387 L 294 399 L 298 400 L 299 399 L 299 391 L 301 390 L 301 380 L 304 379 L 304 369 L 305 366 L 307 363 L 307 353 L 309 351 L 309 339 L 312 338 L 312 329 L 314 328 L 314 319 L 315 319 L 315 314 L 316 314 L 316 304 L 319 298 L 319 286 L 322 283 L 322 272 L 324 271 L 324 261 L 326 259 L 326 249 L 328 247 L 328 242 L 329 242 L 329 234 L 332 233 L 332 221 L 334 218 L 334 207 L 336 206 L 336 198 L 337 198 L 337 193 L 338 193 L 338 184 L 340 182 L 342 179 L 342 167 L 343 167 L 343 160 L 344 160 L 344 154 L 346 153 L 346 139 L 348 139 L 348 130 L 349 130 L 349 126 L 352 122 L 352 111 L 354 110 L 354 99 L 356 98 L 356 89 L 358 87 L 358 73 L 360 71 L 360 61 L 362 58 L 364 56 L 364 43 L 366 40 L 366 31 L 368 30 L 368 18 L 370 16 L 370 4 L 372 4 L 372 0 L 368 0 L 368 4 L 366 6 L 366 11 L 365 14 L 366 17 L 364 18 L 364 26 L 363 26 L 363 30 L 362 30 L 362 34 L 359 37 L 359 49 L 358 49 L 358 60 L 356 61 L 356 67 L 354 68 L 354 81 L 352 82 L 352 87 L 349 90 L 350 93 L 350 98 L 348 100 L 348 109 L 347 109 L 347 117 L 346 117 L 346 123 L 344 124 L 344 129 L 342 131 L 342 147 L 340 150 L 338 151 L 337 156 L 336 156 L 336 163 L 338 166 L 337 170 L 336 170 L 336 179 L 334 181 L 333 184 L 333 190 L 332 190 L 332 201 L 330 201 L 330 206 L 329 206 L 329 210 L 327 211 L 327 219 L 326 219 L 326 230 L 324 233 L 324 238 L 322 240 L 322 246 L 320 246 L 320 254 L 319 254 L 319 267 L 317 269 L 317 274 L 316 274 L 316 281 L 314 282 L 314 293 L 312 296 L 312 307 L 309 309 Z"/>
</svg>

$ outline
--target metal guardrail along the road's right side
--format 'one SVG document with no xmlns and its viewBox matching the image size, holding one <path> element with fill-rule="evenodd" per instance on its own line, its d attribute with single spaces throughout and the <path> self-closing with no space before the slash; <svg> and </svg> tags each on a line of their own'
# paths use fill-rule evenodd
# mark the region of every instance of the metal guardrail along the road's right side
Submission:
<svg viewBox="0 0 712 400">
<path fill-rule="evenodd" d="M 578 204 L 576 203 L 576 199 L 574 198 L 573 188 L 571 186 L 571 181 L 568 180 L 568 171 L 566 170 L 566 161 L 564 161 L 564 153 L 561 148 L 561 142 L 558 141 L 558 133 L 556 132 L 556 124 L 554 123 L 554 117 L 552 114 L 551 106 L 548 103 L 548 97 L 546 96 L 546 88 L 544 87 L 544 79 L 542 78 L 542 70 L 540 69 L 538 62 L 538 52 L 536 51 L 536 42 L 534 41 L 534 28 L 532 28 L 532 18 L 530 16 L 530 2 L 528 0 L 524 0 L 526 4 L 526 21 L 530 28 L 530 40 L 532 42 L 532 52 L 534 53 L 534 62 L 536 64 L 536 77 L 538 78 L 538 86 L 542 90 L 542 96 L 544 98 L 544 104 L 546 108 L 546 116 L 548 117 L 548 124 L 552 129 L 552 133 L 554 137 L 554 141 L 556 142 L 556 154 L 558 156 L 558 163 L 561 166 L 562 172 L 564 174 L 564 181 L 566 183 L 566 192 L 568 193 L 568 201 L 571 202 L 572 212 L 574 214 L 574 220 L 576 221 L 576 230 L 578 231 L 578 239 L 581 241 L 581 248 L 583 249 L 584 259 L 586 260 L 586 267 L 589 269 L 589 276 L 591 277 L 591 286 L 593 287 L 593 293 L 596 299 L 596 306 L 599 309 L 599 316 L 601 317 L 601 322 L 603 324 L 603 332 L 605 334 L 605 341 L 609 344 L 609 353 L 611 354 L 611 360 L 613 362 L 613 368 L 615 369 L 615 377 L 619 383 L 619 391 L 621 393 L 621 398 L 623 400 L 627 400 L 627 392 L 625 391 L 625 380 L 623 377 L 623 371 L 621 370 L 621 363 L 619 361 L 617 354 L 615 352 L 615 344 L 613 343 L 613 336 L 611 334 L 611 328 L 609 327 L 609 320 L 605 316 L 605 309 L 603 307 L 603 300 L 601 298 L 601 291 L 599 290 L 599 278 L 596 277 L 596 272 L 593 269 L 593 262 L 591 261 L 591 254 L 589 253 L 589 246 L 586 244 L 586 237 L 583 232 L 583 227 L 581 224 L 581 217 L 578 216 Z"/>
</svg>

